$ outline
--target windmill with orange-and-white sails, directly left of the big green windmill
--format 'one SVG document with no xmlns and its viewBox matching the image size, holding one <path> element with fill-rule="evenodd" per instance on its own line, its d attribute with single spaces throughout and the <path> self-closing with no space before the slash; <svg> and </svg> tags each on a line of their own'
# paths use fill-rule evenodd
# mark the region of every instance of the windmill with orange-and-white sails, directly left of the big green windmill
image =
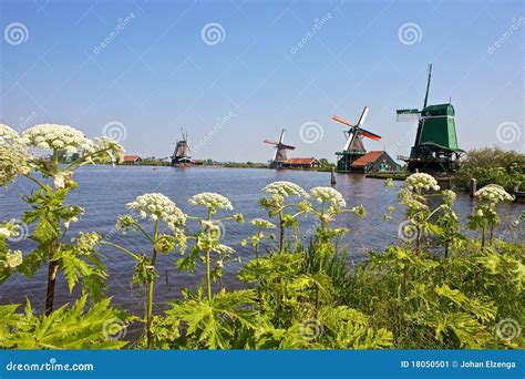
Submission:
<svg viewBox="0 0 525 379">
<path fill-rule="evenodd" d="M 363 144 L 363 137 L 368 137 L 374 141 L 381 140 L 380 135 L 362 129 L 362 125 L 367 120 L 369 110 L 370 109 L 368 106 L 363 107 L 361 116 L 359 117 L 359 121 L 356 125 L 338 115 L 334 115 L 332 117 L 333 121 L 340 122 L 341 124 L 349 126 L 349 129 L 344 131 L 344 136 L 347 139 L 344 147 L 341 152 L 336 153 L 336 155 L 338 156 L 338 171 L 350 171 L 350 166 L 352 165 L 352 163 L 359 157 L 367 154 L 367 150 L 364 148 Z"/>
</svg>

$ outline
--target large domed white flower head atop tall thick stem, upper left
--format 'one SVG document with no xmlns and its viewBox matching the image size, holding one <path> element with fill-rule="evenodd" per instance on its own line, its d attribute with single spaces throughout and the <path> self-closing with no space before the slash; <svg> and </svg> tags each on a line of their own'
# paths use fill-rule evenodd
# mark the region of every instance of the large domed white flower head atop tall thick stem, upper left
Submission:
<svg viewBox="0 0 525 379">
<path fill-rule="evenodd" d="M 21 141 L 41 150 L 65 150 L 69 153 L 76 153 L 79 150 L 86 153 L 95 151 L 93 141 L 68 125 L 37 125 L 24 131 Z"/>
</svg>

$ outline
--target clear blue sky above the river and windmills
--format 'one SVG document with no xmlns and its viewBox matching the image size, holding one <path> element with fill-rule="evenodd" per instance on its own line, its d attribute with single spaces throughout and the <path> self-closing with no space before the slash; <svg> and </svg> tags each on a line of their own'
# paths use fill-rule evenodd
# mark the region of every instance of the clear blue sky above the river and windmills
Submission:
<svg viewBox="0 0 525 379">
<path fill-rule="evenodd" d="M 68 124 L 167 157 L 327 157 L 338 114 L 408 155 L 395 110 L 452 104 L 464 150 L 525 151 L 523 1 L 0 0 L 0 123 Z"/>
</svg>

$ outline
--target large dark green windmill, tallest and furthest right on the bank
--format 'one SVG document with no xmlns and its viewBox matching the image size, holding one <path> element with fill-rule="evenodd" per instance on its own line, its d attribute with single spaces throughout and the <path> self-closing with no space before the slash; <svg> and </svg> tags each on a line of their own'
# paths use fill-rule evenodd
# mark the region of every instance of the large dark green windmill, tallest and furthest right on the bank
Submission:
<svg viewBox="0 0 525 379">
<path fill-rule="evenodd" d="M 432 64 L 429 65 L 423 109 L 398 110 L 398 121 L 411 121 L 415 117 L 419 120 L 410 156 L 398 158 L 408 163 L 411 173 L 416 170 L 426 173 L 453 173 L 457 170 L 457 160 L 464 153 L 457 146 L 454 106 L 451 103 L 426 105 L 431 76 Z"/>
</svg>

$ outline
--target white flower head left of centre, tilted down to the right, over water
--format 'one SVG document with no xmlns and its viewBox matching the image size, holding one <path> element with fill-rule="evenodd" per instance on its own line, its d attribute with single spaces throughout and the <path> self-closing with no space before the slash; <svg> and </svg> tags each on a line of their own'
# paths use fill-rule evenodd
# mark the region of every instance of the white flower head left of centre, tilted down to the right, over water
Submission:
<svg viewBox="0 0 525 379">
<path fill-rule="evenodd" d="M 186 223 L 186 215 L 163 194 L 141 195 L 134 202 L 127 203 L 127 207 L 140 212 L 141 218 L 150 217 L 153 221 L 164 222 L 174 232 Z"/>
</svg>

